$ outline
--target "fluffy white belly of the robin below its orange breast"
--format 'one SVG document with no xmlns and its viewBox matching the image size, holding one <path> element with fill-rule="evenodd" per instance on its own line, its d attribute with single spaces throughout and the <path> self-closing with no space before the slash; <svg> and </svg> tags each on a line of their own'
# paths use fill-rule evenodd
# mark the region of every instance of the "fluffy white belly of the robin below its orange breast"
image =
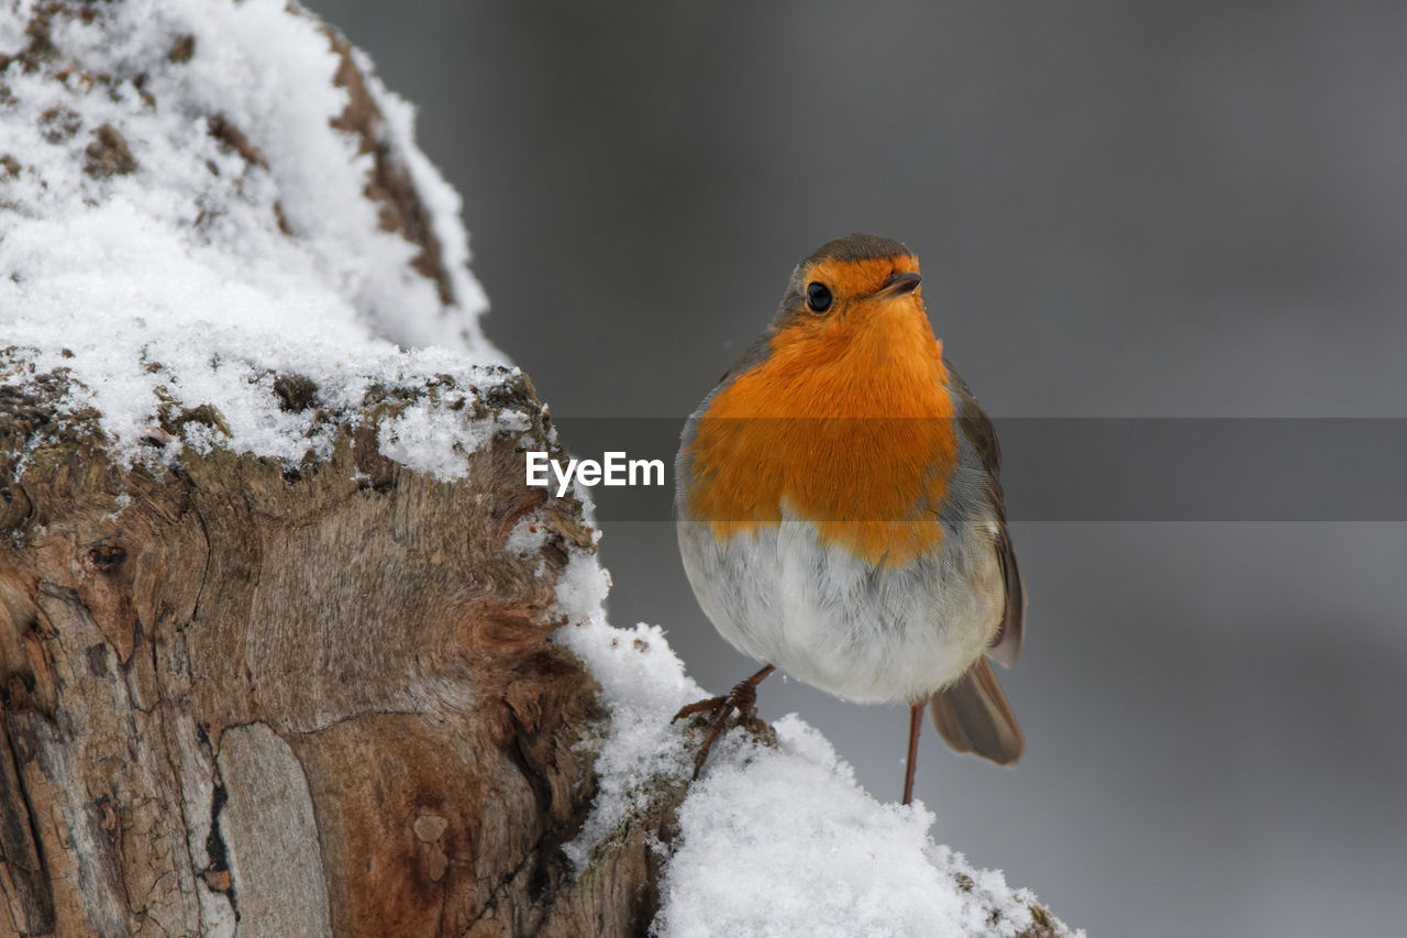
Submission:
<svg viewBox="0 0 1407 938">
<path fill-rule="evenodd" d="M 961 677 L 1002 621 L 995 518 L 948 530 L 903 568 L 874 568 L 822 546 L 809 521 L 784 518 L 718 542 L 678 524 L 684 569 L 734 648 L 857 703 L 919 701 Z"/>
</svg>

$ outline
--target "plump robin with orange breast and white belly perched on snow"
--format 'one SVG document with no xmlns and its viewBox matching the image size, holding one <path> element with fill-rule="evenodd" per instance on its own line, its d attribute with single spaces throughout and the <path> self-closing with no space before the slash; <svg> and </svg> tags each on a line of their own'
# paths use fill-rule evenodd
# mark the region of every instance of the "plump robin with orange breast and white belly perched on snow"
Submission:
<svg viewBox="0 0 1407 938">
<path fill-rule="evenodd" d="M 680 552 L 699 606 L 764 665 L 712 714 L 757 714 L 774 669 L 844 700 L 909 704 L 903 803 L 927 707 L 943 739 L 999 765 L 1026 741 L 988 658 L 1021 646 L 992 421 L 943 358 L 919 259 L 854 234 L 801 262 L 767 331 L 684 427 Z"/>
</svg>

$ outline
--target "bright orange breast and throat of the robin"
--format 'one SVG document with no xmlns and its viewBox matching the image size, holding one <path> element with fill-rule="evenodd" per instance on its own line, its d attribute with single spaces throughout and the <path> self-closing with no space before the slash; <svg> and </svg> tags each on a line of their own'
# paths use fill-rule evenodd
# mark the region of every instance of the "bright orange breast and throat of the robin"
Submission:
<svg viewBox="0 0 1407 938">
<path fill-rule="evenodd" d="M 871 563 L 908 563 L 943 538 L 957 462 L 943 346 L 916 303 L 851 315 L 774 335 L 699 418 L 685 497 L 715 537 L 775 525 L 785 503 Z"/>
</svg>

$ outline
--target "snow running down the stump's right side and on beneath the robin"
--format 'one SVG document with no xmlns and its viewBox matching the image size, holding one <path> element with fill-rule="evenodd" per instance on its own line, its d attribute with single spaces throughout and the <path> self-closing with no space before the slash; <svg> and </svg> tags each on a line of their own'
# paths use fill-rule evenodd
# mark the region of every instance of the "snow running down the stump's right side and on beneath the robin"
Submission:
<svg viewBox="0 0 1407 938">
<path fill-rule="evenodd" d="M 578 870 L 632 813 L 649 808 L 651 794 L 692 772 L 698 739 L 670 720 L 708 696 L 660 627 L 606 621 L 609 586 L 584 551 L 571 554 L 557 586 L 567 625 L 556 641 L 587 663 L 611 711 L 597 741 L 599 794 L 566 848 Z M 996 938 L 1031 928 L 1036 896 L 936 844 L 934 815 L 922 803 L 871 797 L 795 714 L 774 730 L 775 745 L 730 731 L 691 784 L 661 884 L 657 935 Z M 1051 925 L 1055 934 L 1083 934 Z"/>
</svg>

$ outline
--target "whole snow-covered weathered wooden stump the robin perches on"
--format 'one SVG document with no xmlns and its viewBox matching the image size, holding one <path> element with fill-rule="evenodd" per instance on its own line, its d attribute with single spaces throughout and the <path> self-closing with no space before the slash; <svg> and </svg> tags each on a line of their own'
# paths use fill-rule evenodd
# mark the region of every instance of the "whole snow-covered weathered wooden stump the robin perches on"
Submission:
<svg viewBox="0 0 1407 938">
<path fill-rule="evenodd" d="M 1071 934 L 796 718 L 685 799 L 411 125 L 283 0 L 0 0 L 0 935 Z"/>
</svg>

